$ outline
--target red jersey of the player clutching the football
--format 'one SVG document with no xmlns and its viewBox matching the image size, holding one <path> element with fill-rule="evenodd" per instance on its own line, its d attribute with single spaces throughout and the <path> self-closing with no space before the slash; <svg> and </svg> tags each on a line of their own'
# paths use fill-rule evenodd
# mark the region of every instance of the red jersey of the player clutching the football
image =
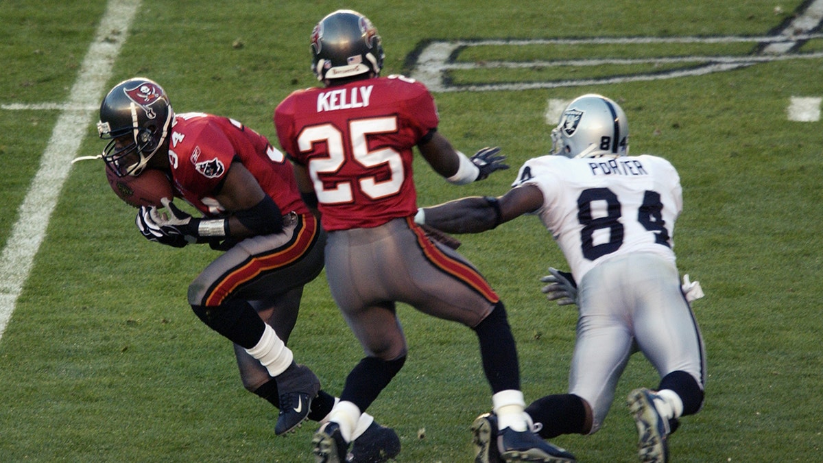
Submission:
<svg viewBox="0 0 823 463">
<path fill-rule="evenodd" d="M 283 154 L 236 120 L 182 113 L 174 116 L 168 137 L 174 189 L 204 215 L 226 213 L 215 197 L 232 161 L 241 162 L 254 175 L 282 213 L 308 212 Z"/>
</svg>

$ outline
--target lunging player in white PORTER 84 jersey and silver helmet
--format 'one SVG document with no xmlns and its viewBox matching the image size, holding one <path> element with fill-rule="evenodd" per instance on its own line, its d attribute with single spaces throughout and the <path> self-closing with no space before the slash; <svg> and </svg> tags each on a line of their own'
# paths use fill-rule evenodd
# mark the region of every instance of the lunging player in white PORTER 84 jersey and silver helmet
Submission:
<svg viewBox="0 0 823 463">
<path fill-rule="evenodd" d="M 597 432 L 639 351 L 661 377 L 656 389 L 635 389 L 628 398 L 639 457 L 663 462 L 678 419 L 703 405 L 704 345 L 686 299 L 702 294 L 687 275 L 681 286 L 672 250 L 680 177 L 662 157 L 628 156 L 628 138 L 620 105 L 580 96 L 552 131 L 551 155 L 526 161 L 506 194 L 421 208 L 416 221 L 477 233 L 524 214 L 540 217 L 571 267 L 571 274 L 550 269 L 543 292 L 564 305 L 576 302 L 579 319 L 569 393 L 528 406 L 532 431 L 543 438 Z M 484 414 L 472 425 L 476 461 L 495 461 L 495 424 Z"/>
</svg>

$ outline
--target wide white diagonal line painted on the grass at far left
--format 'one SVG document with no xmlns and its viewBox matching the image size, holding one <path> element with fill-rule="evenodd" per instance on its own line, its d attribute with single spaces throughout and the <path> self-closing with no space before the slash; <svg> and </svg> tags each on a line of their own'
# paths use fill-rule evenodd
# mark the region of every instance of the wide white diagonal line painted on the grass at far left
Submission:
<svg viewBox="0 0 823 463">
<path fill-rule="evenodd" d="M 111 0 L 100 20 L 95 40 L 81 64 L 65 105 L 54 125 L 49 145 L 40 160 L 40 169 L 31 181 L 26 198 L 17 212 L 6 247 L 0 255 L 0 339 L 5 332 L 17 297 L 29 277 L 40 243 L 43 242 L 49 217 L 57 204 L 60 190 L 68 177 L 72 159 L 77 156 L 89 124 L 94 122 L 95 108 L 90 101 L 100 101 L 108 90 L 114 60 L 128 35 L 128 27 L 140 6 L 140 0 Z"/>
</svg>

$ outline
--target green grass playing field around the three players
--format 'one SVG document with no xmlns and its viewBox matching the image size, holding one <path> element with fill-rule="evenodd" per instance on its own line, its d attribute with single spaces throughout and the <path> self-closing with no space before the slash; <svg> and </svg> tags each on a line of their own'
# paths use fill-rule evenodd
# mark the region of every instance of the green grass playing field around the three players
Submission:
<svg viewBox="0 0 823 463">
<path fill-rule="evenodd" d="M 114 83 L 143 75 L 165 87 L 179 112 L 227 115 L 276 141 L 272 111 L 291 91 L 315 85 L 309 33 L 339 7 L 363 12 L 378 27 L 384 75 L 412 75 L 425 45 L 441 40 L 762 38 L 818 3 L 144 0 L 105 88 L 85 107 L 98 106 Z M 0 246 L 16 222 L 35 217 L 21 204 L 63 114 L 59 105 L 72 101 L 106 7 L 103 0 L 2 2 Z M 604 79 L 663 77 L 699 67 L 695 56 L 739 61 L 755 55 L 762 40 L 467 46 L 454 62 L 486 65 L 448 70 L 452 87 L 435 92 L 440 130 L 456 147 L 499 145 L 513 169 L 455 187 L 419 163 L 421 205 L 502 194 L 523 161 L 551 147 L 550 102 L 587 92 L 621 103 L 632 153 L 667 157 L 677 167 L 685 201 L 675 233 L 678 264 L 706 293 L 695 312 L 709 380 L 704 409 L 683 419 L 672 437 L 673 461 L 823 461 L 823 138 L 820 120 L 792 120 L 789 110 L 793 97 L 823 96 L 823 58 L 808 55 L 820 53 L 821 39 L 810 39 L 780 59 L 640 81 Z M 660 57 L 692 58 L 655 61 Z M 628 61 L 488 65 L 586 58 Z M 533 85 L 586 79 L 593 83 Z M 501 83 L 512 87 L 490 88 Z M 526 84 L 532 88 L 521 88 Z M 96 137 L 96 112 L 87 114 L 77 156 L 104 145 Z M 64 168 L 70 171 L 53 213 L 37 219 L 48 219 L 48 228 L 19 297 L 0 281 L 0 303 L 14 309 L 0 338 L 0 461 L 313 461 L 314 423 L 275 437 L 277 410 L 244 391 L 230 344 L 186 304 L 189 281 L 213 251 L 144 240 L 134 209 L 106 184 L 102 163 Z M 546 268 L 565 266 L 551 236 L 526 217 L 461 239 L 463 254 L 508 307 L 527 400 L 565 391 L 576 314 L 539 292 Z M 17 271 L 0 276 L 12 281 Z M 369 411 L 400 434 L 398 461 L 470 461 L 469 425 L 491 408 L 477 339 L 407 306 L 399 313 L 408 362 Z M 290 346 L 333 393 L 361 357 L 322 276 L 305 292 Z M 623 398 L 657 382 L 635 356 L 602 430 L 553 442 L 579 461 L 636 461 Z"/>
</svg>

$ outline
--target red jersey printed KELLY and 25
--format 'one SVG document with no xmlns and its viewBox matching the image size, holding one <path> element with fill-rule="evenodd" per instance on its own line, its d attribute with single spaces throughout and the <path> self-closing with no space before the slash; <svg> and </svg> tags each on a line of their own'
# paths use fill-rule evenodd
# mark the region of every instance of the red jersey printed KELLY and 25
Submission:
<svg viewBox="0 0 823 463">
<path fill-rule="evenodd" d="M 438 121 L 428 89 L 402 76 L 295 91 L 274 112 L 280 145 L 309 172 L 327 231 L 414 215 L 412 147 Z"/>
</svg>

